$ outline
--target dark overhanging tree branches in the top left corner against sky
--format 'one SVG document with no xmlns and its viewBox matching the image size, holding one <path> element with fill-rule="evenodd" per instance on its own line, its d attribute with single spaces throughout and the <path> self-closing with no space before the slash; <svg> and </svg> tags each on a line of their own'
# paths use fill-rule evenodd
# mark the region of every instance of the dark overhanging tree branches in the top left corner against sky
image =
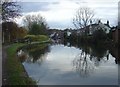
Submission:
<svg viewBox="0 0 120 87">
<path fill-rule="evenodd" d="M 10 0 L 2 0 L 2 21 L 9 21 L 12 18 L 21 16 L 20 5 Z"/>
</svg>

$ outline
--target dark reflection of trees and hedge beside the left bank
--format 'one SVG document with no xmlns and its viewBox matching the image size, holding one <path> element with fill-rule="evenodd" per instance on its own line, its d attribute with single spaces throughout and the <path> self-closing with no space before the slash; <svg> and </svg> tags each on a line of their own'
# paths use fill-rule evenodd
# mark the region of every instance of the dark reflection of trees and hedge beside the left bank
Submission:
<svg viewBox="0 0 120 87">
<path fill-rule="evenodd" d="M 35 63 L 39 61 L 39 64 L 45 60 L 48 52 L 50 51 L 48 45 L 23 47 L 21 50 L 23 52 L 21 55 L 19 55 L 21 62 L 26 61 L 27 63 Z M 21 52 L 21 50 L 18 51 L 18 53 Z"/>
</svg>

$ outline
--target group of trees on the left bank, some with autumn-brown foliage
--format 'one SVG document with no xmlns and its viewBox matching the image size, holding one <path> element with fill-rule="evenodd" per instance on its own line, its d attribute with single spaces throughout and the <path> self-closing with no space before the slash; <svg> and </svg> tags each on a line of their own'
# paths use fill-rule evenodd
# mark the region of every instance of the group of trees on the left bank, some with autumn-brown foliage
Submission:
<svg viewBox="0 0 120 87">
<path fill-rule="evenodd" d="M 21 17 L 21 6 L 18 2 L 11 0 L 2 0 L 2 42 L 14 42 L 16 39 L 22 39 L 27 34 L 30 35 L 47 35 L 49 28 L 45 18 L 40 14 L 27 15 L 23 19 L 24 26 L 19 25 L 14 21 L 14 18 Z"/>
</svg>

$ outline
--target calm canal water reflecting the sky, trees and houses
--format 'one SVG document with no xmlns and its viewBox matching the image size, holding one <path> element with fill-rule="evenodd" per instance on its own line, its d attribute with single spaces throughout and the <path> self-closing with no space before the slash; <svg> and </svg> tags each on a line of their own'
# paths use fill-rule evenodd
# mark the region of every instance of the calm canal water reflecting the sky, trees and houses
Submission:
<svg viewBox="0 0 120 87">
<path fill-rule="evenodd" d="M 22 51 L 22 64 L 38 85 L 118 85 L 118 64 L 107 49 L 68 43 Z"/>
</svg>

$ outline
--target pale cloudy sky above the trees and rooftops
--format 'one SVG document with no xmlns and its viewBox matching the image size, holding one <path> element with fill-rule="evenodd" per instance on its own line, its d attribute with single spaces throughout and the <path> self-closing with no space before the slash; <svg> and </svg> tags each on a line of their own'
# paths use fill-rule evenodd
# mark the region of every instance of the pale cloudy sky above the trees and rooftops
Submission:
<svg viewBox="0 0 120 87">
<path fill-rule="evenodd" d="M 20 0 L 23 16 L 16 18 L 23 25 L 22 18 L 28 14 L 41 14 L 51 29 L 75 28 L 72 20 L 78 8 L 86 6 L 94 10 L 94 18 L 103 23 L 110 21 L 116 26 L 118 21 L 119 0 Z"/>
</svg>

